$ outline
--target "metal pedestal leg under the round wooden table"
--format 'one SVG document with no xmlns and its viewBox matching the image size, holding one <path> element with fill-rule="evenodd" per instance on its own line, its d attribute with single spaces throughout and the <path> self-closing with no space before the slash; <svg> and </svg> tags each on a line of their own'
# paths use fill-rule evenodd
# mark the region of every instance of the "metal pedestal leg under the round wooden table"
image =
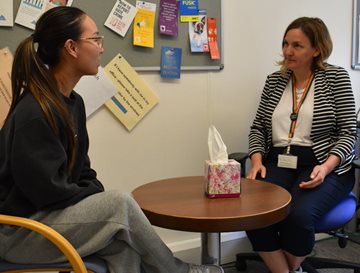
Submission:
<svg viewBox="0 0 360 273">
<path fill-rule="evenodd" d="M 220 265 L 220 233 L 201 233 L 201 263 Z"/>
</svg>

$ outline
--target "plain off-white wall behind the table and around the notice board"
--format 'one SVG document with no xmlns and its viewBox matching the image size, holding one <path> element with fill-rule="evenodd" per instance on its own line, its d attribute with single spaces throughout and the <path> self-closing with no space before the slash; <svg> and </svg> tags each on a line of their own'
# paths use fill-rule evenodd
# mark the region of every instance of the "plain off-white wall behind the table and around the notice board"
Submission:
<svg viewBox="0 0 360 273">
<path fill-rule="evenodd" d="M 142 73 L 160 103 L 132 132 L 104 107 L 90 117 L 92 165 L 106 188 L 132 191 L 162 178 L 202 175 L 210 124 L 229 152 L 246 151 L 266 75 L 281 58 L 283 32 L 300 16 L 320 17 L 327 24 L 334 43 L 329 62 L 349 71 L 359 106 L 360 71 L 351 69 L 352 0 L 223 2 L 224 70 L 184 72 L 179 81 Z M 173 247 L 199 238 L 196 233 L 157 231 Z"/>
</svg>

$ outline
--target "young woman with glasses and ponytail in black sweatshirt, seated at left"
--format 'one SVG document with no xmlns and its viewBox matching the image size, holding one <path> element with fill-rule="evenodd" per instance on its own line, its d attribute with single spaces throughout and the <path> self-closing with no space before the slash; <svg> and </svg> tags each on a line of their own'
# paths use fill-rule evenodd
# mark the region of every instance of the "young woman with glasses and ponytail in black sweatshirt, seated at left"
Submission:
<svg viewBox="0 0 360 273">
<path fill-rule="evenodd" d="M 91 168 L 85 107 L 73 88 L 98 72 L 103 38 L 80 9 L 56 7 L 17 48 L 12 103 L 0 130 L 0 213 L 51 226 L 82 257 L 104 259 L 110 272 L 223 272 L 175 258 L 131 195 L 104 191 Z M 0 226 L 0 242 L 0 257 L 11 262 L 65 259 L 24 229 Z"/>
</svg>

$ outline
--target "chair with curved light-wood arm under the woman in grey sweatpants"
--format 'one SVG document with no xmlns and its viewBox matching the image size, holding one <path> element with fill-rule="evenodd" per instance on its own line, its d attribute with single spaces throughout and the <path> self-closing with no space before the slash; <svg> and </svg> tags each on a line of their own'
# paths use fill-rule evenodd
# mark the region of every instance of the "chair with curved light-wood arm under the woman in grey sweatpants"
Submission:
<svg viewBox="0 0 360 273">
<path fill-rule="evenodd" d="M 107 273 L 107 265 L 104 260 L 91 255 L 81 258 L 75 248 L 61 234 L 38 221 L 0 214 L 0 225 L 13 225 L 34 232 L 51 241 L 67 258 L 69 262 L 49 264 L 17 264 L 0 259 L 0 272 L 70 272 L 75 273 Z M 36 251 L 36 249 L 34 249 Z"/>
</svg>

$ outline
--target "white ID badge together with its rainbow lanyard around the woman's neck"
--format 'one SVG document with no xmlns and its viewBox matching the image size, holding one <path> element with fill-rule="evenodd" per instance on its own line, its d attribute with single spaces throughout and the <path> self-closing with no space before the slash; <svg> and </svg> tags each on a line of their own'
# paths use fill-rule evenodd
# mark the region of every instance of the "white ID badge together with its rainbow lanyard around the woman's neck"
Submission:
<svg viewBox="0 0 360 273">
<path fill-rule="evenodd" d="M 301 99 L 300 99 L 299 103 L 297 103 L 295 77 L 294 77 L 294 75 L 292 76 L 293 111 L 290 114 L 291 123 L 290 123 L 289 135 L 288 135 L 288 145 L 287 145 L 284 153 L 278 155 L 277 166 L 280 168 L 288 168 L 288 169 L 296 169 L 297 168 L 298 157 L 296 155 L 291 154 L 291 151 L 290 151 L 291 146 L 290 145 L 291 145 L 291 140 L 294 137 L 296 121 L 298 119 L 300 107 L 303 104 L 303 102 L 306 98 L 306 95 L 309 93 L 310 86 L 311 86 L 313 79 L 314 79 L 314 75 L 311 75 L 308 83 L 306 84 L 306 88 L 301 96 Z"/>
</svg>

